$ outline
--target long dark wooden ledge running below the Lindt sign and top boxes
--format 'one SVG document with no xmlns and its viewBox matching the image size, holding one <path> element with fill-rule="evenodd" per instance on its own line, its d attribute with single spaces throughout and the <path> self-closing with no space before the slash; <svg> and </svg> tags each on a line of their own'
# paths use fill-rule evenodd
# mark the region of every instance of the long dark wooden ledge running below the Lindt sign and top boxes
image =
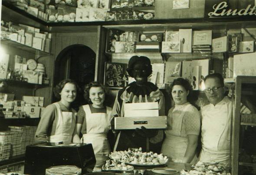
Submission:
<svg viewBox="0 0 256 175">
<path fill-rule="evenodd" d="M 16 6 L 2 1 L 2 19 L 26 25 L 31 25 L 48 32 L 95 32 L 97 26 L 107 29 L 122 29 L 125 31 L 163 31 L 166 29 L 193 28 L 204 29 L 238 29 L 256 27 L 253 16 L 230 16 L 221 18 L 185 18 L 185 19 L 151 19 L 132 21 L 95 21 L 95 22 L 45 22 L 20 10 Z M 206 25 L 207 23 L 207 25 Z"/>
</svg>

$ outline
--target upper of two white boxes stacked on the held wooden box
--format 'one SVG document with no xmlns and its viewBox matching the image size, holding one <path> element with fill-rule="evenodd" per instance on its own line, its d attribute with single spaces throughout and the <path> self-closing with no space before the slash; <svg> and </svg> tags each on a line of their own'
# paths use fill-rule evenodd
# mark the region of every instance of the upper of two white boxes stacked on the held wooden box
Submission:
<svg viewBox="0 0 256 175">
<path fill-rule="evenodd" d="M 124 110 L 158 109 L 158 102 L 125 103 Z"/>
</svg>

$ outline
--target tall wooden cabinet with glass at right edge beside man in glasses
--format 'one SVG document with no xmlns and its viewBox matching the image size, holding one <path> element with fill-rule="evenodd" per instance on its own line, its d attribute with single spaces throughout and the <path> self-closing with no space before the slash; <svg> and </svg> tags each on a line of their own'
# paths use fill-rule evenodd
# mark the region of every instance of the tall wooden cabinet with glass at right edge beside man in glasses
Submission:
<svg viewBox="0 0 256 175">
<path fill-rule="evenodd" d="M 252 175 L 256 173 L 256 76 L 237 76 L 235 85 L 231 170 L 233 175 Z M 251 107 L 251 114 L 241 113 L 241 102 Z"/>
</svg>

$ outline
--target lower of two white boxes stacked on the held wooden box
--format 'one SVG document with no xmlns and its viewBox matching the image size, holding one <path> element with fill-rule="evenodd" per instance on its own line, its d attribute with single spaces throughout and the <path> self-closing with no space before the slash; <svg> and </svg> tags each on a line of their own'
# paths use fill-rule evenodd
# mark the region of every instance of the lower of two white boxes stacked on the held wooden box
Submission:
<svg viewBox="0 0 256 175">
<path fill-rule="evenodd" d="M 125 110 L 125 117 L 156 117 L 159 116 L 158 109 Z"/>
</svg>

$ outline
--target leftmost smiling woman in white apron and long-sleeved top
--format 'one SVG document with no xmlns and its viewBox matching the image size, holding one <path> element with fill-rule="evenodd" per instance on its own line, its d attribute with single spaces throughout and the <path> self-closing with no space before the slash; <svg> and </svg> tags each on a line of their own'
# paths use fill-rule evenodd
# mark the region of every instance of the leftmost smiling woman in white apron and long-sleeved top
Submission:
<svg viewBox="0 0 256 175">
<path fill-rule="evenodd" d="M 36 130 L 36 142 L 71 143 L 75 129 L 75 110 L 70 107 L 79 86 L 75 81 L 62 80 L 54 89 L 59 102 L 48 105 Z"/>
</svg>

